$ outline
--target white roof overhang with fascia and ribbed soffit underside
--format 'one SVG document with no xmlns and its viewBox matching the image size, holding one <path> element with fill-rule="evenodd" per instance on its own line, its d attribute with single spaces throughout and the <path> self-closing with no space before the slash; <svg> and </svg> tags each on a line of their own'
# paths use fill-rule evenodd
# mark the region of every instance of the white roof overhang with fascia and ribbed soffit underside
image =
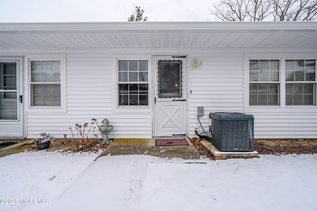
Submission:
<svg viewBox="0 0 317 211">
<path fill-rule="evenodd" d="M 0 50 L 317 48 L 317 22 L 0 23 Z"/>
</svg>

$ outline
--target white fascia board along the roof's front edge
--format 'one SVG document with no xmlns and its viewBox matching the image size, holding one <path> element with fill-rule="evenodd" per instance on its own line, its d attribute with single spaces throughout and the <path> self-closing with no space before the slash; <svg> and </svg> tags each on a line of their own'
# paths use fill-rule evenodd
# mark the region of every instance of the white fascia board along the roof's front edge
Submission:
<svg viewBox="0 0 317 211">
<path fill-rule="evenodd" d="M 317 22 L 0 23 L 0 34 L 165 34 L 317 32 Z"/>
</svg>

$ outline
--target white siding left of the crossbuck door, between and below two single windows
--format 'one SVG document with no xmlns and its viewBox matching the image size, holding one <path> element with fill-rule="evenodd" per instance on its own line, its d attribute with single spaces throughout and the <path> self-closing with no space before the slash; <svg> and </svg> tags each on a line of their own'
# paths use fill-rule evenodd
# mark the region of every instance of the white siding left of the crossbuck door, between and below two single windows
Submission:
<svg viewBox="0 0 317 211">
<path fill-rule="evenodd" d="M 71 138 L 69 127 L 75 124 L 99 123 L 105 118 L 113 125 L 110 138 L 151 138 L 152 116 L 147 113 L 113 113 L 112 53 L 100 51 L 70 51 L 67 53 L 67 113 L 28 113 L 28 137 L 42 131 L 62 138 Z"/>
</svg>

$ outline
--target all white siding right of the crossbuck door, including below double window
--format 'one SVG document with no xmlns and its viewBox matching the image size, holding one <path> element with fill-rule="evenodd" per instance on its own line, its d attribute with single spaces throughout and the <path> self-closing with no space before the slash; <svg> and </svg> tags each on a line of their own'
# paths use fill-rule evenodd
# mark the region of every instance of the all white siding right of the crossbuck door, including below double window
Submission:
<svg viewBox="0 0 317 211">
<path fill-rule="evenodd" d="M 294 51 L 294 50 L 293 50 Z M 281 56 L 278 50 L 254 51 L 249 55 L 264 54 L 266 59 L 273 54 Z M 296 52 L 296 51 L 295 51 Z M 312 53 L 285 53 L 312 58 Z M 194 127 L 202 128 L 197 118 L 197 107 L 204 106 L 205 115 L 200 117 L 206 131 L 209 129 L 210 112 L 245 112 L 255 117 L 255 138 L 316 138 L 317 108 L 315 106 L 257 106 L 249 107 L 249 72 L 244 75 L 244 50 L 215 50 L 191 53 L 203 62 L 198 68 L 189 70 L 189 135 L 195 136 Z M 258 56 L 255 59 L 261 59 Z M 262 57 L 263 59 L 263 57 Z M 245 77 L 245 78 L 244 78 Z M 280 77 L 285 77 L 280 75 Z M 285 80 L 285 79 L 283 79 Z M 275 82 L 274 82 L 275 83 Z M 244 86 L 245 84 L 245 86 Z M 285 88 L 280 91 L 285 95 Z M 284 94 L 283 94 L 284 93 Z M 281 98 L 281 96 L 280 96 Z M 284 98 L 284 97 L 283 97 Z M 281 103 L 285 105 L 285 100 Z"/>
</svg>

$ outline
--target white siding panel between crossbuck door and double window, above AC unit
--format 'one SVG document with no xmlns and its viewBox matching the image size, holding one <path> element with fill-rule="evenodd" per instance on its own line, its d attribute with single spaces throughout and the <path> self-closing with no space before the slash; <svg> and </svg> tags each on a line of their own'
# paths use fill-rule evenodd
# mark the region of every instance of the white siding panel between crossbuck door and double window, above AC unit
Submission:
<svg viewBox="0 0 317 211">
<path fill-rule="evenodd" d="M 202 61 L 197 68 L 189 67 L 189 135 L 200 126 L 197 107 L 203 106 L 205 115 L 200 117 L 209 130 L 210 112 L 243 112 L 243 54 L 239 51 L 216 50 L 190 54 Z M 196 136 L 196 135 L 195 135 Z"/>
</svg>

